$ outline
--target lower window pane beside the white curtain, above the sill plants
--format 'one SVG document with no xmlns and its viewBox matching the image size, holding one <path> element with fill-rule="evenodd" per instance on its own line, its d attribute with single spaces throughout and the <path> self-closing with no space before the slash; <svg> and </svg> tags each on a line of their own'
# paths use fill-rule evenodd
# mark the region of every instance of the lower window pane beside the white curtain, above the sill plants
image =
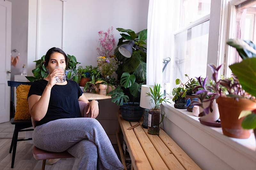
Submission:
<svg viewBox="0 0 256 170">
<path fill-rule="evenodd" d="M 174 36 L 172 88 L 176 87 L 176 78 L 187 80 L 185 74 L 190 78 L 206 76 L 209 24 L 208 20 Z"/>
</svg>

